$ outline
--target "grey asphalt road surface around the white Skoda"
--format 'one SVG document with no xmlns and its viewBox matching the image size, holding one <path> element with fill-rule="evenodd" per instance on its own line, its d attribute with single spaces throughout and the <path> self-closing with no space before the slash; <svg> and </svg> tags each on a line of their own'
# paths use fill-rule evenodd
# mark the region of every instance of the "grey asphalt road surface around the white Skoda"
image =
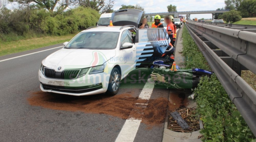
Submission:
<svg viewBox="0 0 256 142">
<path fill-rule="evenodd" d="M 86 108 L 79 109 L 81 100 L 97 101 L 104 95 L 75 97 L 45 93 L 34 97 L 35 93 L 42 93 L 38 81 L 41 61 L 61 49 L 60 46 L 0 57 L 0 142 L 115 142 L 125 137 L 122 135 L 129 134 L 129 130 L 125 129 L 128 118 L 118 117 L 121 111 L 115 114 L 117 109 L 109 109 L 107 113 L 97 113 L 97 109 L 93 112 Z M 115 97 L 139 97 L 145 86 L 144 82 L 122 84 Z M 152 99 L 168 100 L 168 89 L 152 88 L 150 92 L 148 105 Z M 106 100 L 109 99 L 111 97 Z M 74 102 L 79 103 L 76 105 Z M 109 103 L 109 106 L 119 107 L 115 105 L 120 103 Z M 135 133 L 131 134 L 134 135 L 134 142 L 162 142 L 164 123 L 151 124 L 142 120 L 135 129 Z"/>
</svg>

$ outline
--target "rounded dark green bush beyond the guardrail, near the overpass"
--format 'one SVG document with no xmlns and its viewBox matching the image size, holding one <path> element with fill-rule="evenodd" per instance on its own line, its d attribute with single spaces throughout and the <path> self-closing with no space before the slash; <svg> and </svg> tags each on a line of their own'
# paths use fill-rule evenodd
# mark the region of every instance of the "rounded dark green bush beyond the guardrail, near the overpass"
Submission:
<svg viewBox="0 0 256 142">
<path fill-rule="evenodd" d="M 227 22 L 236 22 L 242 19 L 242 16 L 239 11 L 231 10 L 229 12 L 225 12 L 220 16 L 220 19 L 224 19 Z"/>
</svg>

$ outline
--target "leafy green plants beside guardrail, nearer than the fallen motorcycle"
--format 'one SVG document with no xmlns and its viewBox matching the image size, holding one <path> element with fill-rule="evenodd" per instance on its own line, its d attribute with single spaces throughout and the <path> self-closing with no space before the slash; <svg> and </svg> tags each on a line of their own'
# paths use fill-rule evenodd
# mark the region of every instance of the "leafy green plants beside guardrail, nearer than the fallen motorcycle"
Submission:
<svg viewBox="0 0 256 142">
<path fill-rule="evenodd" d="M 203 142 L 253 142 L 255 136 L 214 74 L 194 90 L 197 113 L 204 123 Z"/>
</svg>

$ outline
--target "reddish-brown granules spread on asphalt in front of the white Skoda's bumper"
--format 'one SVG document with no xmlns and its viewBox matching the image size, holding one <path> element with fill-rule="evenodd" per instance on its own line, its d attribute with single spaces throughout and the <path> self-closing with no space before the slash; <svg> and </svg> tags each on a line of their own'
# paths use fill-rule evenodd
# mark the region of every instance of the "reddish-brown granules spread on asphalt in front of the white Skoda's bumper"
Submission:
<svg viewBox="0 0 256 142">
<path fill-rule="evenodd" d="M 39 91 L 33 93 L 27 100 L 30 105 L 48 109 L 103 113 L 127 119 L 137 99 L 138 97 L 134 98 L 128 93 L 113 97 L 108 95 L 76 97 Z"/>
</svg>

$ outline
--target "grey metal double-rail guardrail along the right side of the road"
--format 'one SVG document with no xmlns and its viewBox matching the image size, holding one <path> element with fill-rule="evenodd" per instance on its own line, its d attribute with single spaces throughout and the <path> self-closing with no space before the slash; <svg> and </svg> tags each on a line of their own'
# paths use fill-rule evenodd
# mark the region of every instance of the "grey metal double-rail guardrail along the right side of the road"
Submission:
<svg viewBox="0 0 256 142">
<path fill-rule="evenodd" d="M 256 91 L 240 76 L 256 74 L 256 33 L 187 21 L 190 35 L 256 136 Z M 254 28 L 256 29 L 256 28 Z"/>
</svg>

